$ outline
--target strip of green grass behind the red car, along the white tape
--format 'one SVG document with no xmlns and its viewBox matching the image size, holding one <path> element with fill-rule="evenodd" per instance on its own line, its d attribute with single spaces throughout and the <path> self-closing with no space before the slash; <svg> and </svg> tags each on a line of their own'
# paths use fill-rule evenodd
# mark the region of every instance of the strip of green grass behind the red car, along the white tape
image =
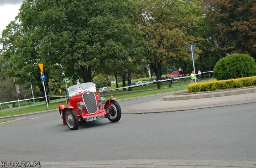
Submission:
<svg viewBox="0 0 256 168">
<path fill-rule="evenodd" d="M 177 87 L 168 87 L 169 82 L 163 82 L 163 89 L 156 89 L 157 85 L 147 85 L 147 86 L 139 86 L 133 88 L 133 91 L 123 91 L 122 89 L 112 91 L 112 92 L 107 92 L 107 93 L 100 93 L 100 97 L 104 97 L 106 99 L 109 99 L 111 95 L 113 95 L 114 98 L 117 98 L 118 100 L 120 99 L 125 99 L 125 98 L 133 98 L 133 97 L 140 97 L 140 96 L 147 96 L 147 95 L 152 95 L 152 94 L 158 94 L 158 93 L 166 93 L 166 92 L 171 92 L 171 91 L 179 91 L 179 90 L 184 90 L 187 89 L 187 85 L 185 86 L 179 86 L 179 84 L 173 84 L 172 86 L 177 86 Z M 60 101 L 51 101 L 48 104 L 48 109 L 47 105 L 45 102 L 41 102 L 40 104 L 37 105 L 28 105 L 26 107 L 15 107 L 10 110 L 5 110 L 3 112 L 0 112 L 0 117 L 1 116 L 9 116 L 9 115 L 17 115 L 17 114 L 24 114 L 24 113 L 30 113 L 30 112 L 38 112 L 38 111 L 43 111 L 43 110 L 52 110 L 52 109 L 58 109 L 58 106 L 60 104 L 64 104 L 66 106 L 66 99 L 61 99 Z"/>
</svg>

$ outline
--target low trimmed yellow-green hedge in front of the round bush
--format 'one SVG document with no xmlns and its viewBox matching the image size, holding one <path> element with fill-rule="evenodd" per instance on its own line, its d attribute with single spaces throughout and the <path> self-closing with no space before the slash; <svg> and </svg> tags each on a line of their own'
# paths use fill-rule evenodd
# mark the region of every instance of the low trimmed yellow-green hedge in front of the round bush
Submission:
<svg viewBox="0 0 256 168">
<path fill-rule="evenodd" d="M 202 92 L 202 91 L 217 91 L 221 89 L 232 89 L 240 88 L 245 86 L 255 86 L 256 76 L 243 77 L 239 79 L 219 80 L 219 81 L 208 81 L 208 82 L 197 82 L 189 84 L 189 92 Z"/>
</svg>

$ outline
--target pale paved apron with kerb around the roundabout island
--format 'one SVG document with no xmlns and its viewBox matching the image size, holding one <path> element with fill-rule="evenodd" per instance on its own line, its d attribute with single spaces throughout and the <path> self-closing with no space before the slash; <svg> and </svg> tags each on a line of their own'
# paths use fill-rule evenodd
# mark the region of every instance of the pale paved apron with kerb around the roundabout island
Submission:
<svg viewBox="0 0 256 168">
<path fill-rule="evenodd" d="M 122 113 L 152 113 L 193 110 L 200 108 L 220 107 L 246 103 L 256 103 L 256 87 L 230 89 L 194 94 L 174 94 L 162 100 L 131 105 L 122 108 Z"/>
</svg>

